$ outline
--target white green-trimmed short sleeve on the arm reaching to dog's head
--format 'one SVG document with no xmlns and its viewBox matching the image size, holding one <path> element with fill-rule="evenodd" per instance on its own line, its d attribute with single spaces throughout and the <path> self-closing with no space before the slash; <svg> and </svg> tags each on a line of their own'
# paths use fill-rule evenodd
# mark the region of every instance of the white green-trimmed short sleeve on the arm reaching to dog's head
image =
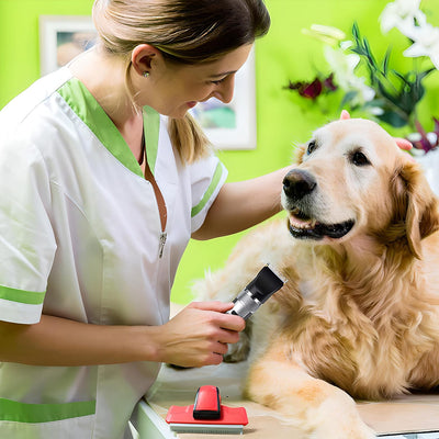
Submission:
<svg viewBox="0 0 439 439">
<path fill-rule="evenodd" d="M 227 169 L 212 155 L 191 165 L 191 233 L 198 230 L 227 178 Z"/>
</svg>

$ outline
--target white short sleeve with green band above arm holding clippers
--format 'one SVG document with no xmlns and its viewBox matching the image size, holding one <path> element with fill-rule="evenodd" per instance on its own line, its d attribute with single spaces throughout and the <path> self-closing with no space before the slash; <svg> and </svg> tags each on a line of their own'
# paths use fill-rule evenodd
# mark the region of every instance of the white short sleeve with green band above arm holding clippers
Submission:
<svg viewBox="0 0 439 439">
<path fill-rule="evenodd" d="M 25 135 L 0 142 L 0 320 L 40 322 L 56 241 L 50 184 Z"/>
</svg>

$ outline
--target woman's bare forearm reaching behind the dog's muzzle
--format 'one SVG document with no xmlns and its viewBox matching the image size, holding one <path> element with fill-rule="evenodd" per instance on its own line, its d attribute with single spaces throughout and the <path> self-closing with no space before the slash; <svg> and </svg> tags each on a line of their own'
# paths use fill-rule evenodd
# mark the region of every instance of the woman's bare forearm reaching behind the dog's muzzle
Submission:
<svg viewBox="0 0 439 439">
<path fill-rule="evenodd" d="M 247 229 L 281 211 L 282 181 L 289 167 L 251 180 L 225 183 L 203 225 L 192 234 L 211 239 Z"/>
</svg>

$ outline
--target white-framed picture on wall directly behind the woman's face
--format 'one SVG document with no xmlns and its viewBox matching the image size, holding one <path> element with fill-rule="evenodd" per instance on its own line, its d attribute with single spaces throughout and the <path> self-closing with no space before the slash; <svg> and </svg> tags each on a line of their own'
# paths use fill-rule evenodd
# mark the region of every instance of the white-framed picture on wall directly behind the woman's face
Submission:
<svg viewBox="0 0 439 439">
<path fill-rule="evenodd" d="M 217 149 L 256 148 L 255 49 L 236 74 L 232 102 L 212 98 L 191 113 Z"/>
</svg>

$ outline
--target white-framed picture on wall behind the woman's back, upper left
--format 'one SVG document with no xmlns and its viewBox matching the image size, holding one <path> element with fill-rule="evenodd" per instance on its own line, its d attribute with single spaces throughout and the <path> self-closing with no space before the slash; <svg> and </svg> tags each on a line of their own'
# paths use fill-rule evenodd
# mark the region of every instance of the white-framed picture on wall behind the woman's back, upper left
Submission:
<svg viewBox="0 0 439 439">
<path fill-rule="evenodd" d="M 97 37 L 91 16 L 40 15 L 41 75 L 65 66 L 92 47 Z"/>
</svg>

